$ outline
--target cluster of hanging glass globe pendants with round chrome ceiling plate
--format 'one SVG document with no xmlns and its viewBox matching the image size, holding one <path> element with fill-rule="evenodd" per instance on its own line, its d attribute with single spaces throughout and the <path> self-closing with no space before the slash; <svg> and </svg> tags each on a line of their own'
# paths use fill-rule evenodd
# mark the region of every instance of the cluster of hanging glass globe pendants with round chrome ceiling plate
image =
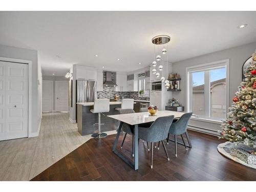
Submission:
<svg viewBox="0 0 256 192">
<path fill-rule="evenodd" d="M 167 50 L 164 44 L 170 41 L 170 37 L 167 35 L 158 35 L 152 39 L 152 43 L 154 44 L 154 61 L 152 62 L 153 70 L 152 73 L 156 75 L 156 77 L 161 77 L 161 81 L 165 80 L 163 76 L 163 58 L 168 62 Z M 157 51 L 156 51 L 157 48 Z M 155 56 L 157 52 L 157 56 Z M 162 55 L 162 56 L 161 56 Z M 161 73 L 161 74 L 160 74 Z"/>
</svg>

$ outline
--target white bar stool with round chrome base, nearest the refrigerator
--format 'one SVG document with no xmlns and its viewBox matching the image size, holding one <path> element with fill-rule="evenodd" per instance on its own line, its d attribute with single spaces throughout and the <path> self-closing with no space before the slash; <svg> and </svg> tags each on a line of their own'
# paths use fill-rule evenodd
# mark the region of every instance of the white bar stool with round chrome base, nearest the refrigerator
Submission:
<svg viewBox="0 0 256 192">
<path fill-rule="evenodd" d="M 94 100 L 94 109 L 90 110 L 92 113 L 98 113 L 98 122 L 94 123 L 94 125 L 98 125 L 98 133 L 92 134 L 94 138 L 102 138 L 106 137 L 106 133 L 101 133 L 100 125 L 104 123 L 100 123 L 100 114 L 104 112 L 110 111 L 110 100 L 109 99 L 95 99 Z"/>
</svg>

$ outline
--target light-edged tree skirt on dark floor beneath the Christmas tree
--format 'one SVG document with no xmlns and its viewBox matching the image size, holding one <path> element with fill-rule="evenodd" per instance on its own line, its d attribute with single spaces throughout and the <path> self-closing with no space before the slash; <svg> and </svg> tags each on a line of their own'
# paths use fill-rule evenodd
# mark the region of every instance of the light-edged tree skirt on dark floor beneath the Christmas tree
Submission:
<svg viewBox="0 0 256 192">
<path fill-rule="evenodd" d="M 218 151 L 222 154 L 222 155 L 224 155 L 224 156 L 226 156 L 227 158 L 229 158 L 229 159 L 232 159 L 233 161 L 236 161 L 236 162 L 238 162 L 238 163 L 240 163 L 240 164 L 242 164 L 242 165 L 245 165 L 245 166 L 247 166 L 247 167 L 251 167 L 251 168 L 254 168 L 254 169 L 256 169 L 256 165 L 254 164 L 247 164 L 246 162 L 244 162 L 244 161 L 242 161 L 242 160 L 240 160 L 239 158 L 237 158 L 237 157 L 234 157 L 234 156 L 231 156 L 230 155 L 230 148 L 232 148 L 232 147 L 236 147 L 233 143 L 231 143 L 231 142 L 229 142 L 229 141 L 227 141 L 227 142 L 225 142 L 225 143 L 221 143 L 221 144 L 219 144 L 218 145 L 218 147 L 217 147 L 217 149 L 218 149 Z M 250 148 L 249 147 L 247 147 L 247 146 L 244 146 L 243 145 L 243 148 L 245 148 L 245 149 L 247 149 L 248 151 L 250 150 Z"/>
</svg>

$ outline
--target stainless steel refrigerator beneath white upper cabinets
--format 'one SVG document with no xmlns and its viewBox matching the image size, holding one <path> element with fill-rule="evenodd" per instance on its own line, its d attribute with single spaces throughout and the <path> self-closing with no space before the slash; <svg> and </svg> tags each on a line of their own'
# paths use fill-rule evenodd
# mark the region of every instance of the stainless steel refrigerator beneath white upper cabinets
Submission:
<svg viewBox="0 0 256 192">
<path fill-rule="evenodd" d="M 76 80 L 76 102 L 94 102 L 96 94 L 96 81 Z"/>
</svg>

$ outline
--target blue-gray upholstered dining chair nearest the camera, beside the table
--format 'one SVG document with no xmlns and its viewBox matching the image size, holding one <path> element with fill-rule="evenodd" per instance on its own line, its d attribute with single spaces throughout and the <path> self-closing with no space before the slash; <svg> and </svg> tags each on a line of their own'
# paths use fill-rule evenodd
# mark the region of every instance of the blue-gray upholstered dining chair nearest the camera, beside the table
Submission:
<svg viewBox="0 0 256 192">
<path fill-rule="evenodd" d="M 163 148 L 167 160 L 169 161 L 169 156 L 167 154 L 163 140 L 167 138 L 170 125 L 172 125 L 174 115 L 159 117 L 157 118 L 150 127 L 140 127 L 139 126 L 139 139 L 147 142 L 151 142 L 151 168 L 153 168 L 153 143 L 162 141 Z"/>
</svg>

